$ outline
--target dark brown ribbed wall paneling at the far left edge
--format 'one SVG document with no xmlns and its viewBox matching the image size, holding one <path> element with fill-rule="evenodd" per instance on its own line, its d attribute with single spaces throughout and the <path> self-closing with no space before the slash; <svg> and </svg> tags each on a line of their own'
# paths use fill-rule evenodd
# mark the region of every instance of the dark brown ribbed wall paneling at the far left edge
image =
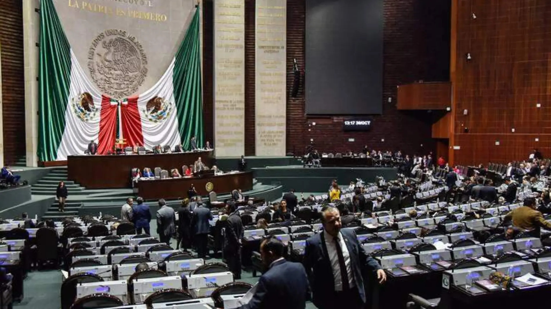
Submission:
<svg viewBox="0 0 551 309">
<path fill-rule="evenodd" d="M 25 155 L 25 76 L 23 59 L 23 2 L 2 1 L 2 98 L 4 163 Z"/>
</svg>

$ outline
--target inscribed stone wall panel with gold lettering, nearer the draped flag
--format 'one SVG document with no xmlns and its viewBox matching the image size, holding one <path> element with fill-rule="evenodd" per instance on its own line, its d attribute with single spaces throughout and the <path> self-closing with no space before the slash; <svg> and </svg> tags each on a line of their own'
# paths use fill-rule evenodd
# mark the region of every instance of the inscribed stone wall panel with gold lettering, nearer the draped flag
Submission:
<svg viewBox="0 0 551 309">
<path fill-rule="evenodd" d="M 219 157 L 245 153 L 245 0 L 214 1 L 214 142 Z"/>
</svg>

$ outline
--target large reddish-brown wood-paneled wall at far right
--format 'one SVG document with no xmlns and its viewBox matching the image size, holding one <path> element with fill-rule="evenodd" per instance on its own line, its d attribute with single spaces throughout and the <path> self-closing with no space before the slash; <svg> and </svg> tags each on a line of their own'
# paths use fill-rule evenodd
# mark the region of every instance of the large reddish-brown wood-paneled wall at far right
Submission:
<svg viewBox="0 0 551 309">
<path fill-rule="evenodd" d="M 514 161 L 526 158 L 536 146 L 551 156 L 550 15 L 551 3 L 544 0 L 458 4 L 453 86 L 459 161 Z M 472 56 L 469 62 L 464 57 L 467 52 Z M 469 133 L 463 133 L 463 126 Z M 482 149 L 498 138 L 500 147 L 491 152 Z M 467 154 L 464 148 L 477 151 Z"/>
</svg>

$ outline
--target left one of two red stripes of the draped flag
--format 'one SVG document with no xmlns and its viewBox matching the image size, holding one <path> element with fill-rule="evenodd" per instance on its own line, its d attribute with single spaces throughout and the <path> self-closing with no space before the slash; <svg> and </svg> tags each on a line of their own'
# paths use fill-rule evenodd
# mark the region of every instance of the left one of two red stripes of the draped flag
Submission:
<svg viewBox="0 0 551 309">
<path fill-rule="evenodd" d="M 117 106 L 111 105 L 111 99 L 101 96 L 100 133 L 98 136 L 98 154 L 107 154 L 115 146 L 117 130 Z"/>
</svg>

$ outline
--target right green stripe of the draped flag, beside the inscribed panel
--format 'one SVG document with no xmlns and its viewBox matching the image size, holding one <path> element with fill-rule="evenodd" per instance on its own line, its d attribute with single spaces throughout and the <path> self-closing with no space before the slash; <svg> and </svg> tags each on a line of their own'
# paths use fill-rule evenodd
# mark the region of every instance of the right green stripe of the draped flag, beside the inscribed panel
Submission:
<svg viewBox="0 0 551 309">
<path fill-rule="evenodd" d="M 182 145 L 188 149 L 192 135 L 198 146 L 204 145 L 198 8 L 176 53 L 172 80 Z"/>
</svg>

